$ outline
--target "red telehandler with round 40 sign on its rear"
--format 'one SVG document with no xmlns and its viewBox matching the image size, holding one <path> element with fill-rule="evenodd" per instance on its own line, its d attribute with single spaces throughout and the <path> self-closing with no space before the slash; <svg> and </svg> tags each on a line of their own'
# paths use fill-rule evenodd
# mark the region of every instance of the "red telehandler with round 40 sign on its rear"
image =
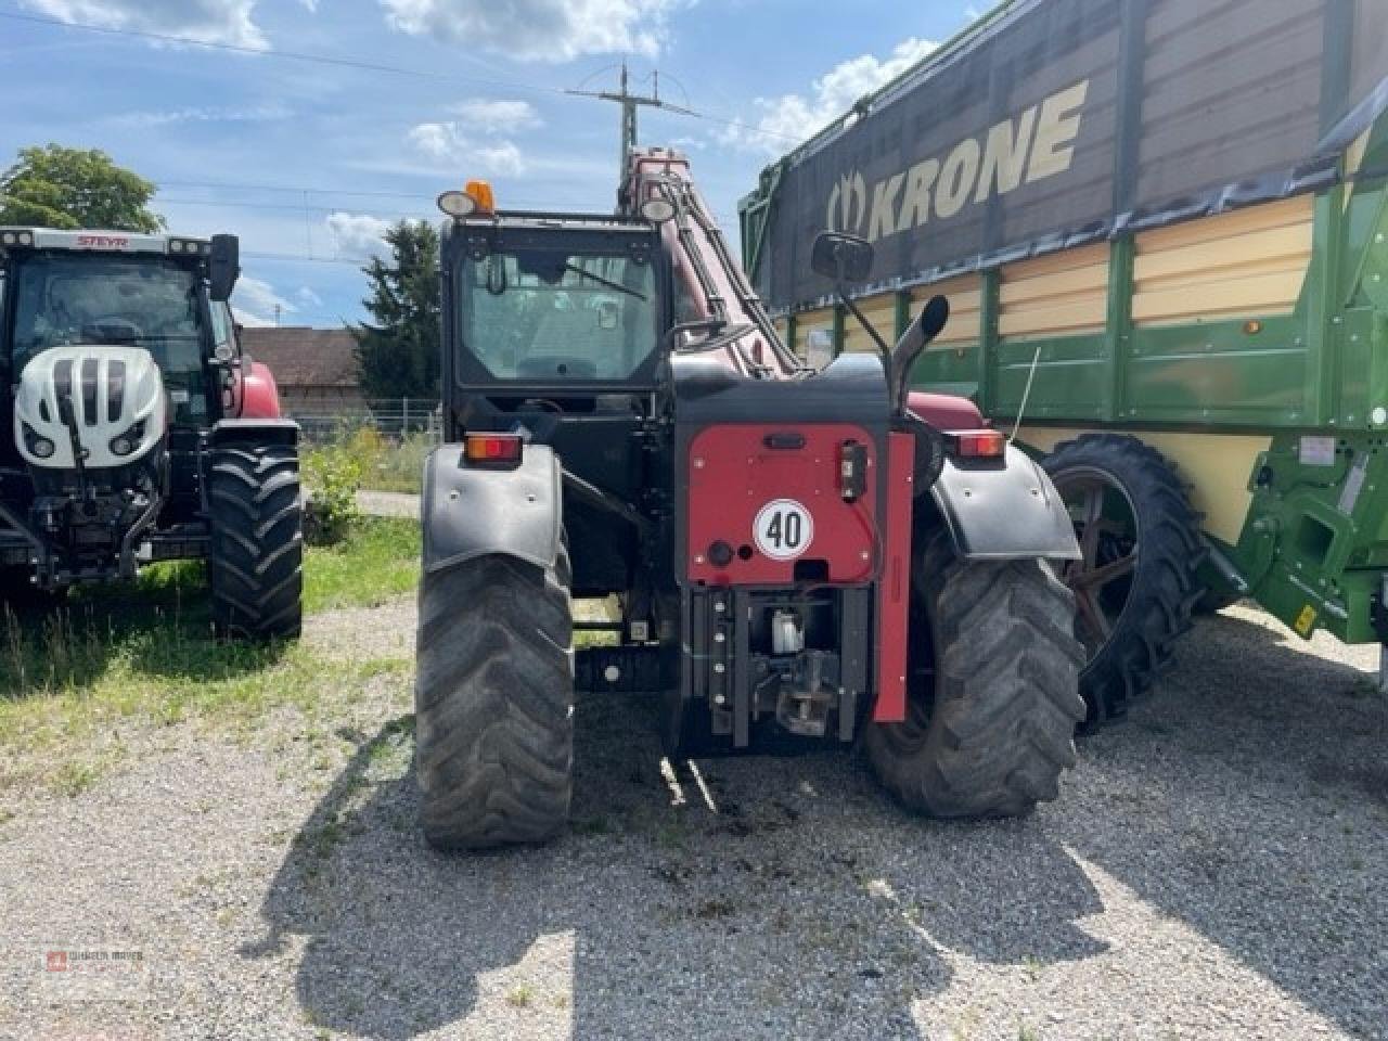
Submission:
<svg viewBox="0 0 1388 1041">
<path fill-rule="evenodd" d="M 632 153 L 616 215 L 448 192 L 447 440 L 425 469 L 416 723 L 440 848 L 565 826 L 576 691 L 659 700 L 672 756 L 859 743 L 905 806 L 1026 813 L 1084 716 L 1078 548 L 967 401 L 906 393 L 948 318 L 813 369 L 688 175 Z M 872 247 L 823 235 L 826 296 Z M 865 322 L 866 326 L 866 322 Z M 870 330 L 870 326 L 866 326 Z M 576 597 L 615 645 L 573 650 Z"/>
</svg>

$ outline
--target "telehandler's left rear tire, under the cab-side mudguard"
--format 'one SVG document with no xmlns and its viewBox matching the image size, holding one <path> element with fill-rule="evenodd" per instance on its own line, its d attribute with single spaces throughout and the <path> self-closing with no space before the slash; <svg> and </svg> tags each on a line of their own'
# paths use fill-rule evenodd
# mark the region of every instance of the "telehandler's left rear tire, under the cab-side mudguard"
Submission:
<svg viewBox="0 0 1388 1041">
<path fill-rule="evenodd" d="M 573 795 L 568 554 L 482 557 L 419 587 L 415 773 L 437 849 L 541 843 Z"/>
</svg>

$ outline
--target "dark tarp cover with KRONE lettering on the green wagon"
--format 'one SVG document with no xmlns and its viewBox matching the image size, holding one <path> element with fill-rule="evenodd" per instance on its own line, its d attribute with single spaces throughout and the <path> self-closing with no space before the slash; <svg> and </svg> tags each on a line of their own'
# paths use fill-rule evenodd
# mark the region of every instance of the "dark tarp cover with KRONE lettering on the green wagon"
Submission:
<svg viewBox="0 0 1388 1041">
<path fill-rule="evenodd" d="M 1312 192 L 1388 104 L 1388 0 L 1016 0 L 762 175 L 748 266 L 827 301 L 826 228 L 880 291 Z"/>
</svg>

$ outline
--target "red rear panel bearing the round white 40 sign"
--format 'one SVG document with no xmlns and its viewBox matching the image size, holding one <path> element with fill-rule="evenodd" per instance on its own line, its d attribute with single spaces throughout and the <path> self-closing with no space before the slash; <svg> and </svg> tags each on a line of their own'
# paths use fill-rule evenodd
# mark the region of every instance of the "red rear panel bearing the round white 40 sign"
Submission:
<svg viewBox="0 0 1388 1041">
<path fill-rule="evenodd" d="M 863 491 L 854 501 L 843 494 L 845 446 L 862 452 Z M 872 437 L 848 423 L 730 423 L 701 432 L 688 458 L 690 579 L 788 586 L 797 564 L 823 561 L 827 582 L 870 582 L 881 544 L 877 465 Z M 726 550 L 731 558 L 720 564 Z"/>
</svg>

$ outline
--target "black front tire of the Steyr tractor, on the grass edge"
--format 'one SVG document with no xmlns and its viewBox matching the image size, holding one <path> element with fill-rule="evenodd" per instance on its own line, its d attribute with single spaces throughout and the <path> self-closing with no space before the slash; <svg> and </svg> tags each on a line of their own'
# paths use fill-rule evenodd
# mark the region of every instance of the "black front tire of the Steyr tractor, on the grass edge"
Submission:
<svg viewBox="0 0 1388 1041">
<path fill-rule="evenodd" d="M 207 501 L 214 630 L 254 640 L 297 637 L 304 591 L 298 450 L 283 444 L 214 448 Z"/>
</svg>

